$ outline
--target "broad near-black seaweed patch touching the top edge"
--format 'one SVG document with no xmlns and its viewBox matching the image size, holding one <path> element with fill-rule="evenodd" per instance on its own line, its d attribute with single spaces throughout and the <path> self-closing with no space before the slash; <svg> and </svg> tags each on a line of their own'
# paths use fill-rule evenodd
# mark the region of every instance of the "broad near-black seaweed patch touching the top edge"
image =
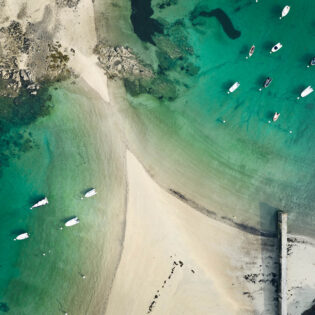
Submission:
<svg viewBox="0 0 315 315">
<path fill-rule="evenodd" d="M 163 33 L 163 25 L 152 19 L 151 0 L 131 0 L 130 20 L 136 35 L 143 41 L 155 45 L 152 36 Z"/>
</svg>

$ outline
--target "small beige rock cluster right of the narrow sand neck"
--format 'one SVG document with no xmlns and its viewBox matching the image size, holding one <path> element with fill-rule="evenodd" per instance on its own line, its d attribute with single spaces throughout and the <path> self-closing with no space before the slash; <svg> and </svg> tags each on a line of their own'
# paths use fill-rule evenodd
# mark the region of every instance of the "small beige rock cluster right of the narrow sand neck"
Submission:
<svg viewBox="0 0 315 315">
<path fill-rule="evenodd" d="M 101 67 L 109 78 L 150 78 L 151 66 L 144 65 L 128 47 L 112 47 L 99 43 L 95 49 Z"/>
</svg>

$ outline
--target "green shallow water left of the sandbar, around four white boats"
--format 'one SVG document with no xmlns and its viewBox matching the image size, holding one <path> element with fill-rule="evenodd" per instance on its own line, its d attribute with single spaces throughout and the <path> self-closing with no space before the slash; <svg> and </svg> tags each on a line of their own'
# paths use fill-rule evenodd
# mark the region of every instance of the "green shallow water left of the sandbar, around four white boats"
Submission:
<svg viewBox="0 0 315 315">
<path fill-rule="evenodd" d="M 106 254 L 109 234 L 116 235 L 110 224 L 111 211 L 120 202 L 119 180 L 113 177 L 119 174 L 119 158 L 107 142 L 106 117 L 93 94 L 69 85 L 57 85 L 49 93 L 50 115 L 19 129 L 32 134 L 33 148 L 12 157 L 0 178 L 1 310 L 21 315 L 100 313 L 104 303 L 99 299 L 107 294 L 104 282 L 111 283 L 110 262 L 120 249 Z M 81 200 L 91 187 L 98 194 Z M 49 204 L 30 210 L 43 196 Z M 72 216 L 80 224 L 60 230 Z M 119 222 L 114 226 L 120 235 Z M 30 238 L 14 242 L 23 231 Z"/>
</svg>

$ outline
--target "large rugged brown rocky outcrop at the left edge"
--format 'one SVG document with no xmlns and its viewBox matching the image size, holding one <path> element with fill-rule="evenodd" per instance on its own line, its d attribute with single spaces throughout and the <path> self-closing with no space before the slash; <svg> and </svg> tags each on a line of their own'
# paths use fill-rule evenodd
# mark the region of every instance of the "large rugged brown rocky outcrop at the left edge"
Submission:
<svg viewBox="0 0 315 315">
<path fill-rule="evenodd" d="M 69 75 L 65 50 L 49 37 L 38 41 L 36 30 L 17 21 L 0 28 L 0 96 L 16 97 L 21 87 L 36 95 L 41 81 Z"/>
</svg>

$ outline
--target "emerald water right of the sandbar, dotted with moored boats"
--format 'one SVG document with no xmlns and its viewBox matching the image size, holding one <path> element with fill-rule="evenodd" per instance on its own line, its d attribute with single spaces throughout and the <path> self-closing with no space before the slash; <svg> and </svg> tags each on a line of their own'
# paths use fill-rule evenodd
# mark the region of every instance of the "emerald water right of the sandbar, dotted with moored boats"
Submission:
<svg viewBox="0 0 315 315">
<path fill-rule="evenodd" d="M 137 117 L 128 132 L 138 130 L 135 150 L 165 188 L 218 216 L 270 231 L 275 211 L 284 209 L 290 232 L 314 235 L 315 94 L 296 99 L 315 85 L 315 69 L 306 67 L 314 54 L 314 3 L 172 1 L 161 9 L 162 2 L 152 1 L 152 17 L 164 25 L 164 34 L 152 35 L 154 46 L 131 35 L 132 26 L 121 31 L 121 43 L 159 78 L 147 92 L 126 85 Z M 280 21 L 285 5 L 291 11 Z M 192 23 L 192 12 L 217 8 L 240 37 L 231 39 L 214 17 L 197 14 Z M 270 55 L 278 42 L 283 48 Z M 268 76 L 271 85 L 259 92 Z M 235 81 L 240 88 L 227 95 Z M 279 120 L 269 123 L 276 111 Z"/>
</svg>

